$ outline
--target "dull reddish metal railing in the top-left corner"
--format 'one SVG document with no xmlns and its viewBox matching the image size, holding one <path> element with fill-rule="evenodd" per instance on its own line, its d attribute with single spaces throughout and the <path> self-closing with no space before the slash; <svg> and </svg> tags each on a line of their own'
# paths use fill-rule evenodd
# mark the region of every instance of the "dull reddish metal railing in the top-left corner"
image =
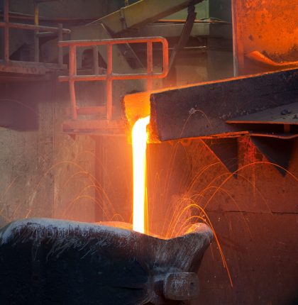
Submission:
<svg viewBox="0 0 298 305">
<path fill-rule="evenodd" d="M 3 15 L 4 20 L 0 22 L 0 28 L 4 28 L 4 62 L 9 63 L 9 29 L 10 28 L 18 28 L 22 30 L 33 30 L 35 32 L 34 35 L 34 62 L 39 62 L 39 38 L 45 35 L 49 35 L 52 33 L 57 33 L 57 37 L 59 40 L 63 40 L 63 34 L 69 34 L 70 30 L 67 28 L 62 28 L 62 24 L 58 24 L 57 28 L 53 26 L 40 26 L 39 25 L 39 8 L 38 4 L 40 0 L 35 0 L 34 2 L 34 24 L 26 24 L 26 23 L 11 23 L 9 22 L 9 0 L 4 0 L 4 9 Z M 62 66 L 63 55 L 62 52 L 57 50 L 58 52 L 58 62 L 59 65 Z"/>
</svg>

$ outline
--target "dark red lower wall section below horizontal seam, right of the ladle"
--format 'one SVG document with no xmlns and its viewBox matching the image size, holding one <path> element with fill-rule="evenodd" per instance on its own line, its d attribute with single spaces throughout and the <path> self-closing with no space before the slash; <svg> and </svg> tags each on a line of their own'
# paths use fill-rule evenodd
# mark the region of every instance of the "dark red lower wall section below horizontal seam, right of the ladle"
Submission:
<svg viewBox="0 0 298 305">
<path fill-rule="evenodd" d="M 296 305 L 297 214 L 226 211 L 223 206 L 221 211 L 210 207 L 207 213 L 219 233 L 233 287 L 212 246 L 199 271 L 199 299 L 192 304 Z"/>
</svg>

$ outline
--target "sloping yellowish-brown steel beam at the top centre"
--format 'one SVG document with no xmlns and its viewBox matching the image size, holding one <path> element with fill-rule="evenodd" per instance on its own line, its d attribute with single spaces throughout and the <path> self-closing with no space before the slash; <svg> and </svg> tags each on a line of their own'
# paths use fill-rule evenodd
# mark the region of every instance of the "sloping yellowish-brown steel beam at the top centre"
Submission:
<svg viewBox="0 0 298 305">
<path fill-rule="evenodd" d="M 112 33 L 141 28 L 202 0 L 141 0 L 89 24 L 103 23 Z"/>
</svg>

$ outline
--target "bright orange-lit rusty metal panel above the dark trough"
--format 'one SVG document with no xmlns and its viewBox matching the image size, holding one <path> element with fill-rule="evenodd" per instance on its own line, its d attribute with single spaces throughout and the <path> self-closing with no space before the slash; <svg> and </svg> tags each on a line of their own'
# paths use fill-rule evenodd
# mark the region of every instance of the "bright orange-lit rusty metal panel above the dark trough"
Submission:
<svg viewBox="0 0 298 305">
<path fill-rule="evenodd" d="M 298 3 L 288 0 L 233 0 L 236 72 L 269 71 L 246 58 L 259 51 L 277 62 L 298 60 Z"/>
</svg>

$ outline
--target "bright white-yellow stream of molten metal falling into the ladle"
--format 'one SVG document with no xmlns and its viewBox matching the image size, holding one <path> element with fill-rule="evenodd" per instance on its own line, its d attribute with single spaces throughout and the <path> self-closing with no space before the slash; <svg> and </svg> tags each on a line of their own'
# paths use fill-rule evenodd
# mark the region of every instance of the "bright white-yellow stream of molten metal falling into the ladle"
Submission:
<svg viewBox="0 0 298 305">
<path fill-rule="evenodd" d="M 140 118 L 133 126 L 133 231 L 145 231 L 145 183 L 147 125 L 150 116 Z"/>
</svg>

